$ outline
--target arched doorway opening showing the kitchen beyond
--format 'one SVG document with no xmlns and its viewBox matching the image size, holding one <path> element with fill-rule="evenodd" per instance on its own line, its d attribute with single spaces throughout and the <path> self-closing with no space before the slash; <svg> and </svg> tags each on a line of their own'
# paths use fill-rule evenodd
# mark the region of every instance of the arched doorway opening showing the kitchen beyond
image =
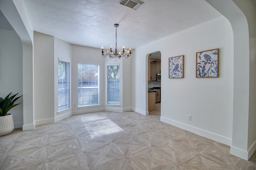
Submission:
<svg viewBox="0 0 256 170">
<path fill-rule="evenodd" d="M 148 54 L 146 57 L 148 68 L 147 86 L 148 95 L 146 95 L 147 115 L 161 115 L 161 53 L 156 51 Z"/>
</svg>

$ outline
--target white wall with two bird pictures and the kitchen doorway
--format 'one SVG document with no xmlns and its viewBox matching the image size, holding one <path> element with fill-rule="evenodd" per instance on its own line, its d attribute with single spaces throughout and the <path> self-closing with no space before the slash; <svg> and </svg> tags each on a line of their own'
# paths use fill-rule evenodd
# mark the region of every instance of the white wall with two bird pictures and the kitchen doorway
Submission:
<svg viewBox="0 0 256 170">
<path fill-rule="evenodd" d="M 196 52 L 220 49 L 219 78 L 195 78 Z M 146 112 L 146 55 L 161 52 L 161 120 L 231 145 L 233 113 L 233 35 L 225 17 L 202 23 L 135 50 L 134 110 Z M 168 58 L 184 55 L 184 78 L 168 78 Z M 192 115 L 192 121 L 187 116 Z"/>
</svg>

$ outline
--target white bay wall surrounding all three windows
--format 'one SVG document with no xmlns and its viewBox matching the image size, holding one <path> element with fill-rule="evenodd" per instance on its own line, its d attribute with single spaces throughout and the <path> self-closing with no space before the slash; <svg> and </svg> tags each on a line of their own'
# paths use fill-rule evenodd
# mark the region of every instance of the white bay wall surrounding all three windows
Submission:
<svg viewBox="0 0 256 170">
<path fill-rule="evenodd" d="M 70 45 L 38 32 L 34 33 L 34 51 L 35 125 L 52 123 L 72 114 L 131 110 L 131 58 L 125 61 L 103 58 L 100 49 Z M 71 67 L 71 109 L 61 113 L 58 113 L 58 58 L 70 61 Z M 77 107 L 78 63 L 100 65 L 100 106 Z M 125 84 L 120 82 L 120 106 L 106 105 L 106 64 L 120 64 L 121 78 L 123 73 L 126 76 Z"/>
</svg>

